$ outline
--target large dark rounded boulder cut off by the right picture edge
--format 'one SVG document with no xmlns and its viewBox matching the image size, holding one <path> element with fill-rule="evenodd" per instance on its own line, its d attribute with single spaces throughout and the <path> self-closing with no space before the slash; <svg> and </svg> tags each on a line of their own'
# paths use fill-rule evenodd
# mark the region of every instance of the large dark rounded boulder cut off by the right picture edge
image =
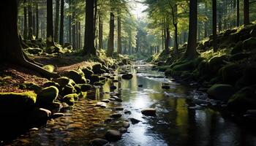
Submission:
<svg viewBox="0 0 256 146">
<path fill-rule="evenodd" d="M 227 108 L 234 112 L 246 112 L 256 107 L 256 86 L 242 88 L 227 102 Z"/>
</svg>

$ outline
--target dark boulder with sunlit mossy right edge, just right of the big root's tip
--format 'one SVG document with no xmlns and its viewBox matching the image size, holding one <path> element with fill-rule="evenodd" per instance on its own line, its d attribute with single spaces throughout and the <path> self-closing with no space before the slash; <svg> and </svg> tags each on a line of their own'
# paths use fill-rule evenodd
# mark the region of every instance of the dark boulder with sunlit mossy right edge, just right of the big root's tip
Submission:
<svg viewBox="0 0 256 146">
<path fill-rule="evenodd" d="M 66 72 L 64 76 L 74 80 L 76 84 L 86 84 L 86 78 L 84 77 L 83 72 L 71 70 L 69 72 Z"/>
</svg>

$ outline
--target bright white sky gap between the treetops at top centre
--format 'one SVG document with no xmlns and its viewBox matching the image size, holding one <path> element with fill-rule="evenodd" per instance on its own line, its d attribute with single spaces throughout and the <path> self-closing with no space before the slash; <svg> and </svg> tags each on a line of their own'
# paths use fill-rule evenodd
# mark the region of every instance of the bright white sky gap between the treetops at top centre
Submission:
<svg viewBox="0 0 256 146">
<path fill-rule="evenodd" d="M 131 0 L 132 1 L 132 0 Z M 137 1 L 142 1 L 142 0 L 137 0 Z M 146 17 L 146 12 L 143 12 L 147 8 L 144 4 L 140 4 L 138 2 L 130 2 L 129 3 L 132 7 L 132 14 L 135 15 L 136 18 L 144 18 Z"/>
</svg>

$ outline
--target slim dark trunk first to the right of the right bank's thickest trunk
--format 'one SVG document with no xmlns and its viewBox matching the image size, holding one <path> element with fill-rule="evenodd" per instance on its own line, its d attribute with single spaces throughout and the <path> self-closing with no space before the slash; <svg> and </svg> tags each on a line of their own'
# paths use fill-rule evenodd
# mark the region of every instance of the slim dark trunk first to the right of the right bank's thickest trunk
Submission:
<svg viewBox="0 0 256 146">
<path fill-rule="evenodd" d="M 212 34 L 214 37 L 214 52 L 217 51 L 217 0 L 212 0 Z"/>
</svg>

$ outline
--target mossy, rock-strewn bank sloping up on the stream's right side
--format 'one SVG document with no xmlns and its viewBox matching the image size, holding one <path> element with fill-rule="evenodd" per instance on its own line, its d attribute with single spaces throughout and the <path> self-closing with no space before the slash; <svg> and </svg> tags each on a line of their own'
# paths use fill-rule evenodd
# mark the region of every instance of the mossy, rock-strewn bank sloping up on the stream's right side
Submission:
<svg viewBox="0 0 256 146">
<path fill-rule="evenodd" d="M 179 48 L 179 57 L 170 52 L 154 55 L 151 61 L 165 75 L 195 85 L 208 93 L 207 99 L 195 104 L 216 107 L 252 120 L 256 119 L 256 25 L 241 26 L 217 35 L 218 50 L 213 50 L 213 37 L 198 42 L 199 55 L 182 59 L 187 45 Z"/>
</svg>

